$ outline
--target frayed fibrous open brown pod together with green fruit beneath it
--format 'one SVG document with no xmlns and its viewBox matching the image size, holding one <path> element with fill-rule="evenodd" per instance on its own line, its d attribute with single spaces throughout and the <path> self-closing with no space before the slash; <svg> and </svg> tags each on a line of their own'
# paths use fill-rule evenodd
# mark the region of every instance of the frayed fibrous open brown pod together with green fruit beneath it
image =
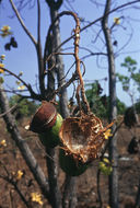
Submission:
<svg viewBox="0 0 140 208">
<path fill-rule="evenodd" d="M 65 150 L 63 158 L 62 155 L 59 158 L 61 169 L 73 176 L 83 173 L 88 164 L 100 155 L 106 139 L 104 132 L 108 127 L 104 128 L 101 119 L 93 114 L 83 114 L 81 117 L 69 117 L 63 120 L 59 131 L 61 149 Z"/>
</svg>

